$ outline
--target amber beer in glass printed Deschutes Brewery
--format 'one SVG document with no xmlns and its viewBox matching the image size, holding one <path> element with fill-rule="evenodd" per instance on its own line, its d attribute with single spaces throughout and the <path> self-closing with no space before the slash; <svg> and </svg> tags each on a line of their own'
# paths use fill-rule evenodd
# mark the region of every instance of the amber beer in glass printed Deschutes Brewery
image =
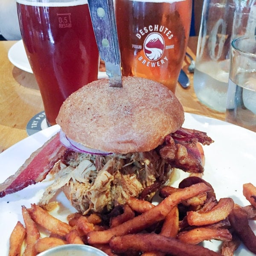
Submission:
<svg viewBox="0 0 256 256">
<path fill-rule="evenodd" d="M 122 75 L 175 92 L 189 39 L 192 0 L 115 0 Z"/>
</svg>

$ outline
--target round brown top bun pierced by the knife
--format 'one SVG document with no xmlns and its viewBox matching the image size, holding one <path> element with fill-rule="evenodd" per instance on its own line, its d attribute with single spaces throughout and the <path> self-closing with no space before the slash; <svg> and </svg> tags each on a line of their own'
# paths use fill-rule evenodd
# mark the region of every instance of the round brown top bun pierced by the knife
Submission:
<svg viewBox="0 0 256 256">
<path fill-rule="evenodd" d="M 183 124 L 183 108 L 167 87 L 138 77 L 123 77 L 122 86 L 108 79 L 85 85 L 65 100 L 56 122 L 70 139 L 116 154 L 150 151 Z"/>
</svg>

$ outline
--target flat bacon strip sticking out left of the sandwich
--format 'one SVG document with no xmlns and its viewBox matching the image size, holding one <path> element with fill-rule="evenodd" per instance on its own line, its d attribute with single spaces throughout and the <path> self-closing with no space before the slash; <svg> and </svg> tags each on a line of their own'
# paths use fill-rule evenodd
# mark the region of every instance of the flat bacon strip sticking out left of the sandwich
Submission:
<svg viewBox="0 0 256 256">
<path fill-rule="evenodd" d="M 55 134 L 41 148 L 33 152 L 14 175 L 0 184 L 0 197 L 44 180 L 66 150 L 67 148 L 59 140 L 59 134 Z"/>
</svg>

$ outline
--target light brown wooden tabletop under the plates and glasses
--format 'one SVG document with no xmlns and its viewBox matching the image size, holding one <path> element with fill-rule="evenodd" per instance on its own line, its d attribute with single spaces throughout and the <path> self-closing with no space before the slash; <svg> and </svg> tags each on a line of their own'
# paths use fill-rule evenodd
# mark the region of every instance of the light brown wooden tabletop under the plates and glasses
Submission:
<svg viewBox="0 0 256 256">
<path fill-rule="evenodd" d="M 0 41 L 0 152 L 26 138 L 26 125 L 32 116 L 44 110 L 35 77 L 15 67 L 8 59 L 8 51 L 16 41 Z M 189 38 L 187 51 L 195 58 L 197 37 Z M 187 72 L 188 62 L 183 70 Z M 191 86 L 183 89 L 177 85 L 176 96 L 184 110 L 213 118 L 225 119 L 224 113 L 213 111 L 201 104 L 193 89 L 193 75 L 189 74 Z"/>
</svg>

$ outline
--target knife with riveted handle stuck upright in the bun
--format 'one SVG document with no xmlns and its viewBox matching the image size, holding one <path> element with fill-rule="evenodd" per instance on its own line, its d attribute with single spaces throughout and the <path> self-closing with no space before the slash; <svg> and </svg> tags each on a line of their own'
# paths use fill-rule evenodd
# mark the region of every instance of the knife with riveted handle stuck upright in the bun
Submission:
<svg viewBox="0 0 256 256">
<path fill-rule="evenodd" d="M 110 86 L 122 87 L 121 58 L 113 0 L 88 0 L 99 55 L 105 61 Z"/>
</svg>

